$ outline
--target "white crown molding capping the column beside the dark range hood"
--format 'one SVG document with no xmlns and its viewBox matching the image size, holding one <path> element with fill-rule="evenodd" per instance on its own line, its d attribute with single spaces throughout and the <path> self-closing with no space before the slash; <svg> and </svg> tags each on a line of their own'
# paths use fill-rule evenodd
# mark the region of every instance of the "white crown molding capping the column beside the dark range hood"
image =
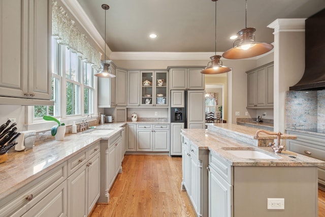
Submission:
<svg viewBox="0 0 325 217">
<path fill-rule="evenodd" d="M 274 28 L 274 33 L 278 32 L 305 32 L 306 18 L 276 19 L 268 25 Z"/>
</svg>

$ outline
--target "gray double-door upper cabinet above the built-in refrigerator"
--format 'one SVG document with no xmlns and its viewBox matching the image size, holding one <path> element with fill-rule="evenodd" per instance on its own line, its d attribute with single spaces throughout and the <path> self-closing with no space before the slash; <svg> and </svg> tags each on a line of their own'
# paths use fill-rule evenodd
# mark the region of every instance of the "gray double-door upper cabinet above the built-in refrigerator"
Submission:
<svg viewBox="0 0 325 217">
<path fill-rule="evenodd" d="M 204 89 L 203 68 L 170 68 L 170 89 Z"/>
</svg>

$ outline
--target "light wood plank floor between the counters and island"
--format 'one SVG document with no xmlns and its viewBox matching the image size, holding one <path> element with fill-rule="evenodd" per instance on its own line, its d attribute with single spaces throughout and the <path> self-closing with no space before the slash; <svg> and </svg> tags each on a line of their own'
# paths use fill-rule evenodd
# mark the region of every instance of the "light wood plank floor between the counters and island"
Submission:
<svg viewBox="0 0 325 217">
<path fill-rule="evenodd" d="M 196 216 L 186 192 L 180 190 L 181 158 L 126 155 L 122 167 L 109 204 L 97 204 L 89 216 Z M 325 192 L 321 190 L 318 217 L 325 217 Z"/>
</svg>

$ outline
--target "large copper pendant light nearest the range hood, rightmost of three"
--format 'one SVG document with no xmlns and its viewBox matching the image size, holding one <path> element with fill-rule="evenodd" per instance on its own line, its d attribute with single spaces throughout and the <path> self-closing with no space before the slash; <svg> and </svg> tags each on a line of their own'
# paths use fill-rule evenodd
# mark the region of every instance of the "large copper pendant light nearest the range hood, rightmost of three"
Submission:
<svg viewBox="0 0 325 217">
<path fill-rule="evenodd" d="M 225 51 L 222 57 L 227 59 L 244 59 L 267 53 L 273 49 L 273 45 L 268 43 L 259 43 L 255 41 L 255 28 L 247 28 L 247 0 L 245 10 L 245 28 L 241 29 L 237 35 L 239 39 L 233 43 L 233 48 Z M 235 43 L 238 42 L 236 45 Z"/>
</svg>

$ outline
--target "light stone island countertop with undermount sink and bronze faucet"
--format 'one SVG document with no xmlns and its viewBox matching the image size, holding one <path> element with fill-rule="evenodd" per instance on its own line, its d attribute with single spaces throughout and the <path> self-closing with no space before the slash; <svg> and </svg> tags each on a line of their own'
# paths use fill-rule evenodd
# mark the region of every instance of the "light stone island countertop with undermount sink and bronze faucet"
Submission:
<svg viewBox="0 0 325 217">
<path fill-rule="evenodd" d="M 216 124 L 214 124 L 216 125 Z M 238 130 L 240 133 L 245 132 L 248 127 L 232 125 L 232 124 L 219 124 L 219 128 L 224 127 L 226 130 Z M 256 129 L 253 129 L 256 132 Z M 255 134 L 247 132 L 249 136 Z M 189 139 L 191 144 L 198 146 L 199 149 L 209 149 L 213 154 L 224 159 L 232 166 L 259 166 L 259 167 L 315 167 L 325 166 L 325 162 L 306 157 L 291 151 L 282 151 L 281 153 L 273 152 L 271 147 L 257 147 L 235 138 L 231 138 L 224 132 L 216 133 L 212 130 L 204 129 L 182 129 L 183 136 Z M 290 135 L 285 135 L 291 138 Z M 266 136 L 268 137 L 268 136 Z M 281 136 L 282 138 L 282 136 Z M 266 153 L 276 159 L 244 159 L 234 156 L 226 150 L 258 150 Z M 289 158 L 293 156 L 295 158 Z"/>
</svg>

